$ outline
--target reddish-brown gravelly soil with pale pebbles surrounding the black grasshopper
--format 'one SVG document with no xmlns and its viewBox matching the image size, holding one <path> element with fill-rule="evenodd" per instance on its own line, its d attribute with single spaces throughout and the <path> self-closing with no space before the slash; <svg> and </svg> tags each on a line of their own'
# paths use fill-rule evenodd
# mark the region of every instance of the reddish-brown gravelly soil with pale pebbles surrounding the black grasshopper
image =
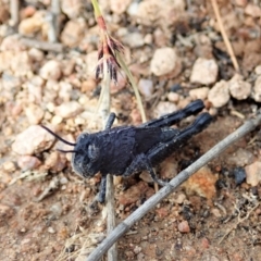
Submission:
<svg viewBox="0 0 261 261">
<path fill-rule="evenodd" d="M 99 28 L 90 1 L 61 1 L 59 44 L 50 44 L 50 0 L 21 1 L 15 24 L 0 8 L 0 260 L 85 260 L 105 236 L 104 210 L 89 209 L 99 174 L 75 175 L 70 141 L 102 128 L 95 79 Z M 54 1 L 53 1 L 54 2 Z M 149 119 L 202 99 L 213 123 L 157 170 L 172 178 L 252 117 L 261 102 L 261 4 L 213 1 L 99 1 L 141 92 Z M 40 42 L 40 44 L 39 44 Z M 126 75 L 111 85 L 115 125 L 141 122 Z M 183 121 L 178 127 L 191 123 Z M 256 129 L 211 161 L 119 241 L 119 260 L 261 260 L 261 151 Z M 72 149 L 72 148 L 70 148 Z M 146 173 L 115 181 L 120 223 L 154 194 Z M 104 259 L 105 260 L 105 259 Z"/>
</svg>

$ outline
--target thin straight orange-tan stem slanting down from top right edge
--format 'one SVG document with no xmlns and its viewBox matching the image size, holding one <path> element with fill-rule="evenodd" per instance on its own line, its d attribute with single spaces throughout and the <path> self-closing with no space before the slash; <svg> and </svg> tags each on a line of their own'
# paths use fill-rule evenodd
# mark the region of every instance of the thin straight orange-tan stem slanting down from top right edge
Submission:
<svg viewBox="0 0 261 261">
<path fill-rule="evenodd" d="M 219 5 L 217 5 L 217 2 L 216 0 L 211 0 L 211 3 L 212 3 L 212 7 L 213 7 L 213 10 L 214 10 L 214 13 L 215 13 L 215 17 L 217 20 L 217 24 L 220 26 L 220 30 L 221 30 L 221 35 L 224 39 L 224 42 L 225 42 L 225 46 L 226 46 L 226 49 L 231 55 L 231 60 L 233 62 L 233 66 L 234 69 L 239 72 L 239 66 L 238 66 L 238 63 L 237 63 L 237 60 L 236 60 L 236 57 L 235 57 L 235 53 L 233 51 L 233 48 L 232 48 L 232 45 L 231 45 L 231 41 L 226 35 L 226 32 L 225 32 L 225 28 L 224 28 L 224 24 L 222 22 L 222 18 L 221 18 L 221 15 L 220 15 L 220 10 L 219 10 Z"/>
</svg>

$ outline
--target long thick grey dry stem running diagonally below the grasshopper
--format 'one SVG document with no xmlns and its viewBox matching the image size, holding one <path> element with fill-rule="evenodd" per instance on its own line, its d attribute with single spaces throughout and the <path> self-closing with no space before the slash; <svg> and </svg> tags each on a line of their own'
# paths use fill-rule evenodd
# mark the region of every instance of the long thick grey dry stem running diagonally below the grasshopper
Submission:
<svg viewBox="0 0 261 261">
<path fill-rule="evenodd" d="M 184 183 L 189 176 L 197 172 L 200 167 L 206 165 L 209 161 L 219 156 L 228 146 L 235 142 L 237 139 L 244 137 L 249 132 L 253 130 L 261 123 L 261 114 L 257 117 L 248 120 L 243 126 L 236 129 L 234 133 L 228 135 L 225 139 L 215 145 L 206 154 L 200 157 L 196 162 L 189 165 L 187 169 L 182 171 L 177 176 L 175 176 L 169 185 L 161 188 L 157 194 L 149 198 L 141 207 L 139 207 L 135 212 L 133 212 L 125 221 L 119 224 L 112 233 L 89 254 L 86 259 L 87 261 L 99 260 L 105 251 L 119 239 L 121 238 L 135 222 L 139 221 L 146 213 L 148 213 L 152 208 L 154 208 L 162 199 L 167 197 L 173 192 L 182 183 Z"/>
</svg>

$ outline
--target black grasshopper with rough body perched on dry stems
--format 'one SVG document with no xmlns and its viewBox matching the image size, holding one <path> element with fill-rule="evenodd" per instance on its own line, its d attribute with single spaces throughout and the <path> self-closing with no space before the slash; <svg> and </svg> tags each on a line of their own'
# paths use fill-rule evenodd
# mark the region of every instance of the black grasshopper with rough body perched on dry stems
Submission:
<svg viewBox="0 0 261 261">
<path fill-rule="evenodd" d="M 202 132 L 212 121 L 209 113 L 201 113 L 196 121 L 184 129 L 171 127 L 181 120 L 197 114 L 204 108 L 201 100 L 189 103 L 183 110 L 151 120 L 139 126 L 113 127 L 115 114 L 112 113 L 102 132 L 80 134 L 76 142 L 69 142 L 42 126 L 61 141 L 73 146 L 73 170 L 84 177 L 92 177 L 101 173 L 100 190 L 97 197 L 104 202 L 107 175 L 129 176 L 134 173 L 148 171 L 152 179 L 161 186 L 165 182 L 159 179 L 153 166 L 162 162 L 173 151 L 181 148 L 191 136 Z"/>
</svg>

